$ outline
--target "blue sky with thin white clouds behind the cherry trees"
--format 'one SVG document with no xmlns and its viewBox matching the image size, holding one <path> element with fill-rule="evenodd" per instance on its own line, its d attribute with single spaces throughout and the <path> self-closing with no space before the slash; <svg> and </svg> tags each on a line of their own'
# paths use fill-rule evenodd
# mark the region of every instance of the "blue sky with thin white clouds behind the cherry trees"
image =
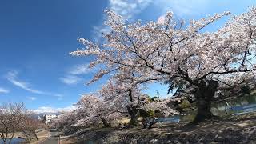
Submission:
<svg viewBox="0 0 256 144">
<path fill-rule="evenodd" d="M 24 102 L 38 111 L 67 110 L 81 94 L 94 92 L 106 82 L 85 83 L 95 70 L 89 58 L 69 55 L 78 37 L 99 41 L 103 11 L 113 9 L 131 21 L 156 21 L 167 10 L 177 18 L 202 18 L 231 11 L 241 14 L 255 0 L 2 0 L 0 1 L 0 103 Z M 206 30 L 216 30 L 225 18 Z M 146 93 L 166 96 L 166 86 L 154 84 Z"/>
</svg>

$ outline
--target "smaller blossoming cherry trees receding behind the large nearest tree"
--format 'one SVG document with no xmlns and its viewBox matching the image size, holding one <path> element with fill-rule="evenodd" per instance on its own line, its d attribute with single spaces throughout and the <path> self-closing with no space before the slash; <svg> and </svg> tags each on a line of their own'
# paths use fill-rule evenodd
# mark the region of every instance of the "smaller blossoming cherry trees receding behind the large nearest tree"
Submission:
<svg viewBox="0 0 256 144">
<path fill-rule="evenodd" d="M 178 114 L 171 109 L 170 98 L 152 100 L 148 95 L 142 94 L 141 88 L 136 86 L 138 83 L 135 82 L 132 75 L 129 77 L 127 74 L 126 82 L 123 82 L 120 80 L 123 80 L 121 77 L 124 74 L 117 74 L 101 90 L 82 95 L 75 104 L 77 109 L 62 114 L 54 124 L 57 124 L 59 128 L 66 128 L 66 130 L 71 130 L 70 126 L 79 128 L 96 126 L 100 123 L 105 127 L 110 127 L 111 122 L 117 123 L 121 118 L 130 116 L 130 126 L 138 126 L 138 117 L 142 116 L 146 127 L 150 124 L 146 122 L 146 118 L 154 116 L 154 114 L 161 114 L 162 117 Z M 130 81 L 137 84 L 130 86 Z M 148 114 L 149 112 L 152 114 Z M 151 123 L 151 126 L 153 124 Z"/>
</svg>

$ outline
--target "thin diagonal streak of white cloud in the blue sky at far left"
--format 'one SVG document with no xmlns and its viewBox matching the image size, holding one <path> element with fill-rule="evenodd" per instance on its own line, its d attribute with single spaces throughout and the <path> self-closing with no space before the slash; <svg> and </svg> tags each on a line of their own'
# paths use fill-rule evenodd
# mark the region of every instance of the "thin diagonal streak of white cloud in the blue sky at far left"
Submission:
<svg viewBox="0 0 256 144">
<path fill-rule="evenodd" d="M 49 96 L 54 96 L 58 97 L 58 100 L 62 99 L 62 94 L 54 94 L 42 90 L 36 90 L 31 88 L 29 82 L 24 82 L 18 79 L 18 72 L 17 71 L 10 71 L 6 74 L 6 79 L 14 84 L 14 86 L 18 86 L 19 88 L 22 88 L 23 90 L 29 91 L 33 94 L 44 94 L 44 95 L 49 95 Z"/>
</svg>

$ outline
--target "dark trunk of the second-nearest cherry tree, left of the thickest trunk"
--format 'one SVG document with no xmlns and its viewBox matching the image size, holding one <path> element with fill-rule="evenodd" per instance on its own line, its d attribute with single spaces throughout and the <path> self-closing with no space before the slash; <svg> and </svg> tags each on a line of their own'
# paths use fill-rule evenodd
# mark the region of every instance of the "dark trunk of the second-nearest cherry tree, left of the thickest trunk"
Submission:
<svg viewBox="0 0 256 144">
<path fill-rule="evenodd" d="M 127 106 L 128 113 L 130 114 L 130 126 L 138 126 L 138 106 Z"/>
</svg>

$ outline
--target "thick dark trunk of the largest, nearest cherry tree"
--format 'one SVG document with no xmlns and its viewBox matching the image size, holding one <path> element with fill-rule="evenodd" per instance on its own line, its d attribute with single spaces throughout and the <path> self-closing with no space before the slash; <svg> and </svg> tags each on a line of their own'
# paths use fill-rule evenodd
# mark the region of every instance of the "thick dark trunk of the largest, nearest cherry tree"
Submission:
<svg viewBox="0 0 256 144">
<path fill-rule="evenodd" d="M 198 114 L 194 118 L 194 122 L 202 122 L 206 118 L 213 116 L 210 112 L 210 102 L 217 88 L 218 82 L 214 80 L 204 80 L 199 83 L 198 88 L 194 92 L 196 106 L 198 108 Z"/>
</svg>

